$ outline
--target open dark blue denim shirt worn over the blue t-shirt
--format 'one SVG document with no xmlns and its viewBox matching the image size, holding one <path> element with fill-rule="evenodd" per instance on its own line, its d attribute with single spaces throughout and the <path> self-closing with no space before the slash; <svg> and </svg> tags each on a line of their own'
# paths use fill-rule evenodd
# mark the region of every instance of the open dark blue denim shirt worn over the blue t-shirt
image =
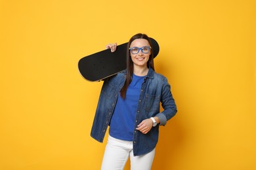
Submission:
<svg viewBox="0 0 256 170">
<path fill-rule="evenodd" d="M 112 114 L 114 112 L 116 101 L 121 88 L 125 82 L 126 71 L 121 71 L 111 78 L 106 78 L 100 92 L 98 106 L 91 129 L 91 137 L 103 142 L 104 136 Z M 160 112 L 160 102 L 163 112 Z M 133 132 L 133 154 L 139 156 L 147 154 L 154 150 L 158 143 L 159 126 L 165 126 L 167 120 L 175 116 L 177 107 L 171 94 L 171 86 L 165 76 L 160 75 L 149 69 L 148 75 L 142 83 L 137 114 L 135 117 L 135 127 Z M 152 127 L 146 134 L 141 133 L 136 127 L 142 120 L 157 116 L 160 124 Z"/>
</svg>

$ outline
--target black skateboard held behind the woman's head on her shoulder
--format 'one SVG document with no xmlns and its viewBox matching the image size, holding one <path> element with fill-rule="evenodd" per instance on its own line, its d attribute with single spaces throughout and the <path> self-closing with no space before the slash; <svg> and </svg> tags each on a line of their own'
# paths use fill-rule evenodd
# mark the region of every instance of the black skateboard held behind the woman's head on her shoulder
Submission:
<svg viewBox="0 0 256 170">
<path fill-rule="evenodd" d="M 160 47 L 155 39 L 150 38 L 150 41 L 156 57 Z M 128 42 L 118 45 L 115 52 L 106 49 L 79 59 L 79 73 L 85 80 L 96 82 L 123 71 L 126 69 L 127 44 Z"/>
</svg>

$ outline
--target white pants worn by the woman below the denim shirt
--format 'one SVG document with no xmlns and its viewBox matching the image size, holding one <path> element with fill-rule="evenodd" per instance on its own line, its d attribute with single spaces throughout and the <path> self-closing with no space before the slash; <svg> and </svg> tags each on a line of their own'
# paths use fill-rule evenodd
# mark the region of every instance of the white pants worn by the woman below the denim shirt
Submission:
<svg viewBox="0 0 256 170">
<path fill-rule="evenodd" d="M 142 156 L 133 156 L 132 141 L 119 140 L 109 135 L 101 170 L 123 169 L 129 156 L 132 170 L 150 170 L 155 156 L 155 149 Z"/>
</svg>

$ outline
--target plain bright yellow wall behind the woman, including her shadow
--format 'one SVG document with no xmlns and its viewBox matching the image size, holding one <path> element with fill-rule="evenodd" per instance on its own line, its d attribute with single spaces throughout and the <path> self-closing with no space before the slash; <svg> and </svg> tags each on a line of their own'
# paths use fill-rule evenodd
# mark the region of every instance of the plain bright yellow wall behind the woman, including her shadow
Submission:
<svg viewBox="0 0 256 170">
<path fill-rule="evenodd" d="M 102 82 L 83 56 L 146 33 L 160 44 L 178 113 L 152 169 L 256 169 L 251 0 L 0 1 L 0 169 L 100 169 L 90 137 Z M 125 167 L 129 169 L 129 165 Z"/>
</svg>

